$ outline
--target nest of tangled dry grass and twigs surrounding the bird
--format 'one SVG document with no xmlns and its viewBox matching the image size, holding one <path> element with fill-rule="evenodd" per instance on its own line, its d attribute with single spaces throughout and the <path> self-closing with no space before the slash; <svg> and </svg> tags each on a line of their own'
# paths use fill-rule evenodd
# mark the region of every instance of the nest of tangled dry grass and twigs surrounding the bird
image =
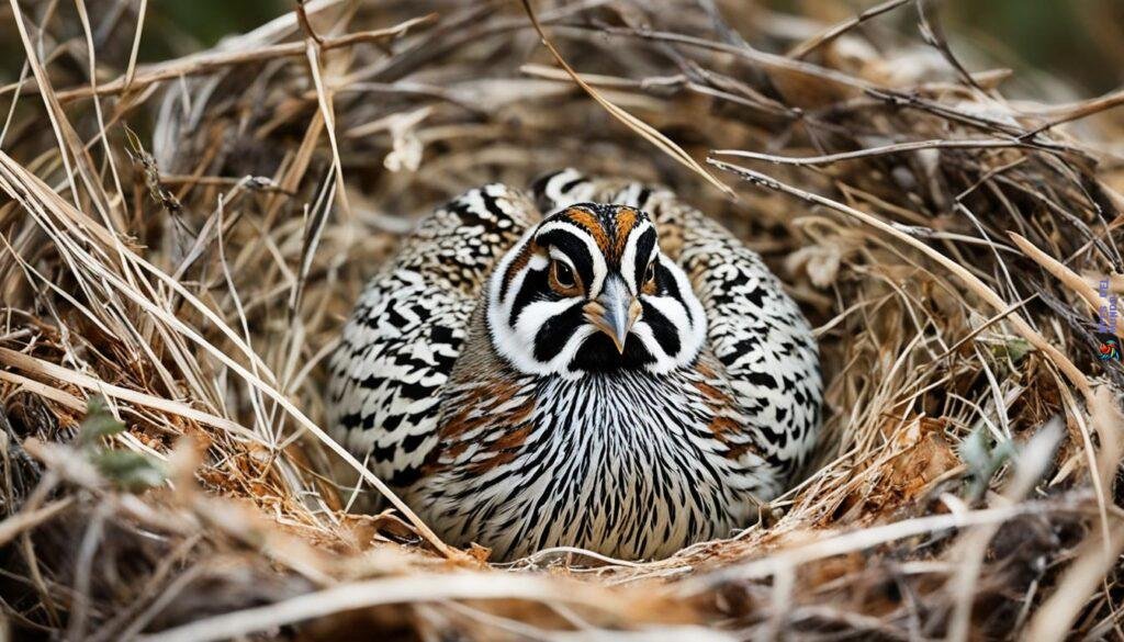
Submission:
<svg viewBox="0 0 1124 642">
<path fill-rule="evenodd" d="M 7 625 L 1114 634 L 1124 371 L 1096 313 L 1124 292 L 1118 96 L 1012 103 L 912 3 L 835 28 L 708 7 L 535 3 L 695 169 L 517 6 L 309 2 L 135 67 L 132 9 L 89 37 L 76 7 L 7 9 L 30 53 L 0 146 Z M 379 491 L 351 491 L 317 426 L 365 279 L 436 204 L 566 165 L 668 184 L 785 279 L 828 382 L 816 465 L 760 524 L 647 563 L 500 568 L 401 512 L 347 514 Z"/>
</svg>

